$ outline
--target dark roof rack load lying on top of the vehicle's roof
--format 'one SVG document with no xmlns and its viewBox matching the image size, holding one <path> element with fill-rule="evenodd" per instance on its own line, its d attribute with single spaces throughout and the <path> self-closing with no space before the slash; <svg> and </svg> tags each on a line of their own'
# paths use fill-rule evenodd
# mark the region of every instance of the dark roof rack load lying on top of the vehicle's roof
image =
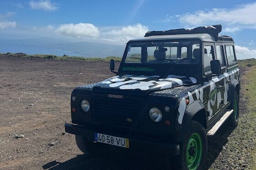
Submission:
<svg viewBox="0 0 256 170">
<path fill-rule="evenodd" d="M 205 27 L 196 27 L 194 29 L 174 29 L 174 30 L 166 30 L 166 31 L 148 31 L 144 37 L 152 36 L 152 35 L 176 35 L 176 34 L 193 34 L 193 33 L 208 33 L 218 40 L 219 33 L 221 32 L 222 26 L 218 25 L 210 25 Z"/>
</svg>

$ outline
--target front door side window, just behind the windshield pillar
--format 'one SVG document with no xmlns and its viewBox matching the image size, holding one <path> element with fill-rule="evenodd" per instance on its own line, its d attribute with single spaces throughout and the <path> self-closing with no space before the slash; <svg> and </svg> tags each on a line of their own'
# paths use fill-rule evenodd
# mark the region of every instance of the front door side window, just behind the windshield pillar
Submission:
<svg viewBox="0 0 256 170">
<path fill-rule="evenodd" d="M 210 72 L 211 70 L 211 61 L 213 60 L 213 46 L 204 46 L 204 72 Z"/>
</svg>

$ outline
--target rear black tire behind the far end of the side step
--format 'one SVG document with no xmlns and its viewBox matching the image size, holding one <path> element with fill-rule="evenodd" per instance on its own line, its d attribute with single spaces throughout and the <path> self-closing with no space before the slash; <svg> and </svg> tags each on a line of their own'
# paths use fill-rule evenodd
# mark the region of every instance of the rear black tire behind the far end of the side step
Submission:
<svg viewBox="0 0 256 170">
<path fill-rule="evenodd" d="M 239 119 L 239 97 L 237 92 L 235 91 L 234 100 L 230 104 L 230 109 L 233 109 L 233 114 L 230 115 L 228 119 L 229 126 L 236 127 L 238 125 Z"/>
</svg>

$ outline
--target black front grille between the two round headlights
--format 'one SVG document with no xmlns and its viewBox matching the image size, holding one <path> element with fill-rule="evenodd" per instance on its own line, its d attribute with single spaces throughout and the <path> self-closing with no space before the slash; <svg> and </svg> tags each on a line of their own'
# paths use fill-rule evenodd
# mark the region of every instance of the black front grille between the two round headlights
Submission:
<svg viewBox="0 0 256 170">
<path fill-rule="evenodd" d="M 143 98 L 108 98 L 108 94 L 93 94 L 91 107 L 94 123 L 143 127 Z"/>
</svg>

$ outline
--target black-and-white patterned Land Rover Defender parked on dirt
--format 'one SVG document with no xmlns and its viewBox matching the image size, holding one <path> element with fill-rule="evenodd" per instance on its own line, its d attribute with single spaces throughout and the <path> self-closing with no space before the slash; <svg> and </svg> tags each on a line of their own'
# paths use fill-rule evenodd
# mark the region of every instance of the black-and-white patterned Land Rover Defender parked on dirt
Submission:
<svg viewBox="0 0 256 170">
<path fill-rule="evenodd" d="M 240 69 L 221 25 L 147 32 L 127 42 L 116 73 L 76 87 L 72 124 L 79 149 L 171 156 L 179 169 L 204 169 L 207 136 L 238 124 Z"/>
</svg>

